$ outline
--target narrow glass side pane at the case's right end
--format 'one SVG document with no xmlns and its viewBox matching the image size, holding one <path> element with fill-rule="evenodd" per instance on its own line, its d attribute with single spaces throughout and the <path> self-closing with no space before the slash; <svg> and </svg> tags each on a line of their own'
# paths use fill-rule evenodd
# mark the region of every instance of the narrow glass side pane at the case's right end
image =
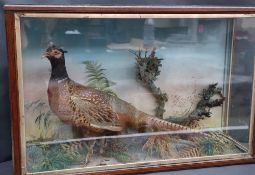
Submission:
<svg viewBox="0 0 255 175">
<path fill-rule="evenodd" d="M 245 145 L 249 143 L 252 115 L 254 29 L 254 18 L 235 20 L 228 124 L 240 128 L 230 130 L 229 134 Z"/>
</svg>

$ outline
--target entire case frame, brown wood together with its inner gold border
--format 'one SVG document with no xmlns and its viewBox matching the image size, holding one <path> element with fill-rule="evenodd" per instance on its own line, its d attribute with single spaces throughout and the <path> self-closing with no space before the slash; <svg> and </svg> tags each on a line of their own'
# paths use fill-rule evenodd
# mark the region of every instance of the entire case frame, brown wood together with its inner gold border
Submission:
<svg viewBox="0 0 255 175">
<path fill-rule="evenodd" d="M 102 16 L 102 14 L 104 14 Z M 120 14 L 120 15 L 118 15 Z M 253 7 L 163 7 L 163 6 L 26 6 L 15 5 L 5 6 L 7 50 L 9 64 L 10 101 L 12 115 L 12 141 L 13 141 L 13 165 L 14 174 L 25 174 L 24 165 L 24 111 L 22 90 L 22 69 L 20 68 L 19 56 L 21 55 L 19 31 L 19 17 L 68 17 L 68 18 L 107 18 L 115 15 L 116 18 L 124 15 L 128 18 L 160 17 L 160 18 L 233 18 L 233 17 L 255 17 Z M 255 76 L 253 76 L 255 77 Z M 250 149 L 249 153 L 238 155 L 207 156 L 192 158 L 187 160 L 162 160 L 157 162 L 130 163 L 123 165 L 113 165 L 108 168 L 83 168 L 68 169 L 54 172 L 44 172 L 43 174 L 128 174 L 156 172 L 165 170 L 223 166 L 231 164 L 255 163 L 255 129 L 254 129 L 254 99 L 255 85 L 253 81 L 252 112 L 250 122 Z M 84 170 L 86 169 L 86 172 Z M 41 174 L 41 173 L 38 173 Z"/>
</svg>

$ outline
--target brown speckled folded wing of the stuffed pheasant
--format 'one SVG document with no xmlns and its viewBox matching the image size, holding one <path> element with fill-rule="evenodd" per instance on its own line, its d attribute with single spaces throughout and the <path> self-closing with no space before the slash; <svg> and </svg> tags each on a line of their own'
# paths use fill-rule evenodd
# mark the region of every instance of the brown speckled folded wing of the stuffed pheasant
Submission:
<svg viewBox="0 0 255 175">
<path fill-rule="evenodd" d="M 100 131 L 121 131 L 118 114 L 111 108 L 109 97 L 101 91 L 76 86 L 71 101 L 77 113 L 77 126 Z M 80 123 L 79 123 L 80 122 Z"/>
</svg>

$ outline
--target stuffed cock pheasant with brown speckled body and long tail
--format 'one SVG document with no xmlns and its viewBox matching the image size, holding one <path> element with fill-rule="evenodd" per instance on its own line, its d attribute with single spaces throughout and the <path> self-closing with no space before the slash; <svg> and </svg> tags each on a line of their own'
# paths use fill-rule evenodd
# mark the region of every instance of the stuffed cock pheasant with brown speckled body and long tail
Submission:
<svg viewBox="0 0 255 175">
<path fill-rule="evenodd" d="M 44 55 L 51 63 L 49 105 L 63 122 L 99 135 L 121 133 L 127 128 L 139 132 L 188 129 L 146 114 L 116 96 L 76 83 L 68 76 L 65 53 L 61 48 L 50 46 Z"/>
</svg>

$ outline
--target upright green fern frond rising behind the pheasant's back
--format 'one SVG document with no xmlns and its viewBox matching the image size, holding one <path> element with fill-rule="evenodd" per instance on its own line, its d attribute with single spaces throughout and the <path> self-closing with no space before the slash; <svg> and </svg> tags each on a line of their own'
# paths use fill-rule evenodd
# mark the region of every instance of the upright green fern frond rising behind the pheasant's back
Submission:
<svg viewBox="0 0 255 175">
<path fill-rule="evenodd" d="M 104 73 L 106 69 L 103 69 L 101 64 L 95 61 L 83 61 L 82 64 L 84 64 L 86 68 L 86 73 L 88 77 L 87 86 L 116 96 L 116 94 L 111 89 L 111 87 L 114 86 L 116 83 L 110 81 L 106 77 Z"/>
</svg>

